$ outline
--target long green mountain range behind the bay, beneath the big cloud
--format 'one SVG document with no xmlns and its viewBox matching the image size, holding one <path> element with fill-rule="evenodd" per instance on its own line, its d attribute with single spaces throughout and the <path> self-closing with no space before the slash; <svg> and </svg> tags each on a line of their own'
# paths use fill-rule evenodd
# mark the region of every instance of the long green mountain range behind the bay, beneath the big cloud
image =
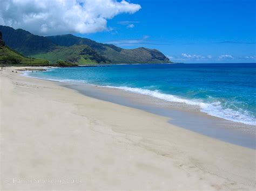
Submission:
<svg viewBox="0 0 256 191">
<path fill-rule="evenodd" d="M 79 65 L 91 63 L 169 63 L 171 62 L 157 49 L 144 47 L 124 49 L 110 44 L 97 43 L 91 39 L 72 34 L 58 36 L 37 36 L 22 29 L 0 25 L 5 44 L 25 56 L 48 60 L 58 60 Z"/>
</svg>

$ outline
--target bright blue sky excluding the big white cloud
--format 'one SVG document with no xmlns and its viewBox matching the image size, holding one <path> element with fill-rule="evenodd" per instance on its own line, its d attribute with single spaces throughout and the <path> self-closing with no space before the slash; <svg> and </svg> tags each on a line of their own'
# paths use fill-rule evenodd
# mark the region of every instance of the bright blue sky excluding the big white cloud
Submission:
<svg viewBox="0 0 256 191">
<path fill-rule="evenodd" d="M 123 48 L 156 48 L 177 62 L 255 62 L 254 0 L 131 0 L 142 6 L 77 36 Z"/>
</svg>

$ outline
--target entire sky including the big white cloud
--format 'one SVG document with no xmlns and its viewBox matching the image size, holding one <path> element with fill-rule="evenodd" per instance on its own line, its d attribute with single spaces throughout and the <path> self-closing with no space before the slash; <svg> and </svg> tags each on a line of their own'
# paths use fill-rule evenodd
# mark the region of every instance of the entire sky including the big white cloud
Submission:
<svg viewBox="0 0 256 191">
<path fill-rule="evenodd" d="M 256 0 L 5 0 L 0 25 L 72 33 L 176 62 L 256 62 Z"/>
</svg>

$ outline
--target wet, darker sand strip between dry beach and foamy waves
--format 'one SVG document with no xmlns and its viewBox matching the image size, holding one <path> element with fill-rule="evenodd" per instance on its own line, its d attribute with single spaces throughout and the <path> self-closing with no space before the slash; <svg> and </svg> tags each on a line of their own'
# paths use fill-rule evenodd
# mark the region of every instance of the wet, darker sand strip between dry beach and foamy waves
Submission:
<svg viewBox="0 0 256 191">
<path fill-rule="evenodd" d="M 46 69 L 49 70 L 49 68 Z M 30 74 L 32 73 L 29 69 L 24 73 L 25 76 L 35 77 Z M 119 87 L 97 86 L 84 81 L 77 82 L 44 78 L 42 80 L 58 82 L 60 86 L 76 90 L 85 96 L 168 117 L 169 123 L 181 128 L 228 143 L 256 149 L 255 125 L 234 122 L 207 114 L 201 111 L 199 105 L 166 101 L 158 97 L 136 93 Z"/>
</svg>

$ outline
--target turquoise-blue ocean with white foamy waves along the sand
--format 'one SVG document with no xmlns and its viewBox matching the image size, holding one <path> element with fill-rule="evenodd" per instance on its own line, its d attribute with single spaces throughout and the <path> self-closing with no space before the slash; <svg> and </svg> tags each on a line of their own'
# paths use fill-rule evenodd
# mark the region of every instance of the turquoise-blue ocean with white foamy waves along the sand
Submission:
<svg viewBox="0 0 256 191">
<path fill-rule="evenodd" d="M 209 115 L 256 125 L 255 63 L 183 63 L 54 68 L 32 77 L 90 83 L 197 105 Z"/>
</svg>

